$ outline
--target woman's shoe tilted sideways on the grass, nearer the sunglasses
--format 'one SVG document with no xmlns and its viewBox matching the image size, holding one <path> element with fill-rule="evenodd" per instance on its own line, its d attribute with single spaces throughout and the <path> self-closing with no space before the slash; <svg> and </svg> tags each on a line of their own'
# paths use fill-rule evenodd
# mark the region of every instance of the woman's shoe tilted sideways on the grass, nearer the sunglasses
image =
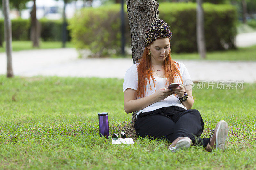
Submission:
<svg viewBox="0 0 256 170">
<path fill-rule="evenodd" d="M 172 152 L 175 152 L 180 148 L 189 148 L 191 144 L 192 141 L 189 137 L 178 137 L 172 142 L 168 149 L 171 150 Z"/>
</svg>

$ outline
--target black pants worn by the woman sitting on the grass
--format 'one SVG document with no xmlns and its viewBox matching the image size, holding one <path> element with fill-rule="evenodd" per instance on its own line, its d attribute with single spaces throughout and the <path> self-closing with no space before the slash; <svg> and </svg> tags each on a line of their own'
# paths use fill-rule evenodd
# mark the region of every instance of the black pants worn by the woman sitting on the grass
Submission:
<svg viewBox="0 0 256 170">
<path fill-rule="evenodd" d="M 136 135 L 145 138 L 161 138 L 172 143 L 178 137 L 189 137 L 193 144 L 206 147 L 209 138 L 199 138 L 204 122 L 198 110 L 182 107 L 163 107 L 151 112 L 140 113 L 134 125 Z"/>
</svg>

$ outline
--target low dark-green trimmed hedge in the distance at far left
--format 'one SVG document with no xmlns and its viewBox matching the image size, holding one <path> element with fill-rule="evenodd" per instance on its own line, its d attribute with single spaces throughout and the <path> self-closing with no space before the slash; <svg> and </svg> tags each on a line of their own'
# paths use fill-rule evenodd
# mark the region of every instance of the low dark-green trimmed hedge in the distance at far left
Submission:
<svg viewBox="0 0 256 170">
<path fill-rule="evenodd" d="M 12 19 L 12 40 L 27 41 L 30 38 L 30 20 Z M 62 41 L 62 21 L 61 20 L 39 20 L 41 25 L 41 38 L 43 41 Z M 4 20 L 0 20 L 0 39 L 4 41 Z M 68 31 L 68 41 L 70 41 Z"/>
</svg>

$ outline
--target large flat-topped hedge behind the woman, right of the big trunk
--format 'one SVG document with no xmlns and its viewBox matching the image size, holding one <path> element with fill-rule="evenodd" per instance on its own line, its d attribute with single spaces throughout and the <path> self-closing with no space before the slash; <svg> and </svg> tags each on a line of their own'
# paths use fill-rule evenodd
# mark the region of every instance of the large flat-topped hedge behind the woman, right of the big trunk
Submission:
<svg viewBox="0 0 256 170">
<path fill-rule="evenodd" d="M 236 9 L 231 5 L 204 3 L 203 10 L 207 51 L 234 48 L 234 39 L 237 34 Z M 160 4 L 159 18 L 170 25 L 172 51 L 197 51 L 196 3 Z"/>
</svg>

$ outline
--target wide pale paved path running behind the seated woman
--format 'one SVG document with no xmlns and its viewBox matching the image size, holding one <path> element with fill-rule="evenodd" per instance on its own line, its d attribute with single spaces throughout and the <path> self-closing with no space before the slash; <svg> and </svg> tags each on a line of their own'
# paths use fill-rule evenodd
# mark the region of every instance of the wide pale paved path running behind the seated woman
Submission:
<svg viewBox="0 0 256 170">
<path fill-rule="evenodd" d="M 178 60 L 193 81 L 256 82 L 255 61 Z M 13 71 L 20 76 L 76 76 L 124 78 L 132 59 L 79 59 L 74 48 L 29 50 L 12 53 Z M 0 74 L 6 74 L 6 54 L 0 53 Z"/>
</svg>

